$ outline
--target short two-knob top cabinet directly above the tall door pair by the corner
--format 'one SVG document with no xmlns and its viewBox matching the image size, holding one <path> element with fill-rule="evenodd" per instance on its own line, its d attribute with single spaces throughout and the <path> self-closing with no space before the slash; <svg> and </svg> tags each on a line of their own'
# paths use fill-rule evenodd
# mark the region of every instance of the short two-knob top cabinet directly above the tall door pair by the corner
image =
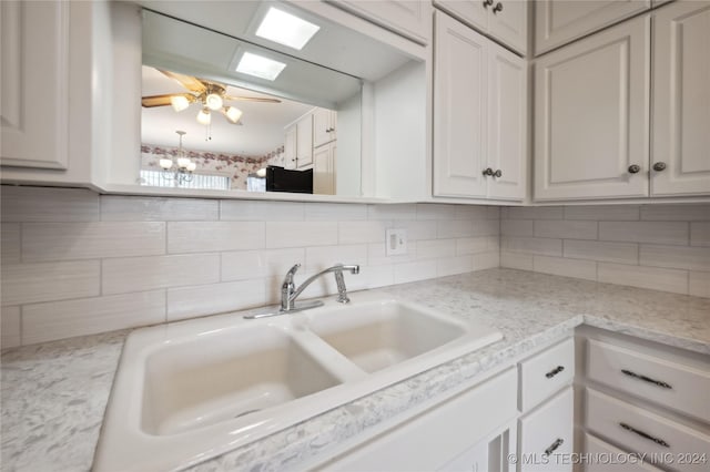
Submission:
<svg viewBox="0 0 710 472">
<path fill-rule="evenodd" d="M 434 4 L 520 54 L 527 53 L 528 1 L 434 0 Z"/>
</svg>

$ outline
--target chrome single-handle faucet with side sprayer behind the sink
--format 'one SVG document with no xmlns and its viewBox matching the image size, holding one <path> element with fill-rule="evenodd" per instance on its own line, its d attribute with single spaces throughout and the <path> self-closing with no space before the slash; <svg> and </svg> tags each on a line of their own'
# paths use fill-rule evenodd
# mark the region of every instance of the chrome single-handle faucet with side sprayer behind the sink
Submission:
<svg viewBox="0 0 710 472">
<path fill-rule="evenodd" d="M 255 319 L 255 318 L 264 318 L 267 316 L 283 315 L 288 312 L 302 311 L 308 308 L 315 308 L 323 306 L 323 301 L 313 300 L 300 304 L 296 306 L 296 298 L 306 289 L 315 279 L 318 277 L 333 273 L 335 275 L 335 284 L 337 285 L 337 299 L 336 301 L 339 304 L 348 304 L 351 299 L 347 297 L 347 288 L 345 287 L 345 277 L 343 277 L 344 270 L 349 270 L 351 274 L 359 274 L 358 265 L 343 265 L 336 264 L 333 267 L 328 267 L 325 270 L 321 270 L 316 275 L 313 275 L 305 279 L 303 284 L 298 288 L 296 288 L 295 283 L 293 281 L 293 277 L 301 268 L 301 264 L 294 265 L 286 273 L 286 277 L 284 278 L 283 284 L 281 285 L 281 308 L 275 312 L 266 312 L 258 315 L 247 315 L 244 318 Z"/>
</svg>

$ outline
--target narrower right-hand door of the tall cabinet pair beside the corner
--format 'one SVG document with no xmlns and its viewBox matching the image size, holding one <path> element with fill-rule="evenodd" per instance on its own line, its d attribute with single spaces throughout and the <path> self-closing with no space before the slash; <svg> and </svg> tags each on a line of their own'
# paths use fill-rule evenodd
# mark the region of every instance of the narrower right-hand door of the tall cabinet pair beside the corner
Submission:
<svg viewBox="0 0 710 472">
<path fill-rule="evenodd" d="M 488 47 L 488 179 L 491 198 L 525 197 L 527 179 L 527 62 Z"/>
</svg>

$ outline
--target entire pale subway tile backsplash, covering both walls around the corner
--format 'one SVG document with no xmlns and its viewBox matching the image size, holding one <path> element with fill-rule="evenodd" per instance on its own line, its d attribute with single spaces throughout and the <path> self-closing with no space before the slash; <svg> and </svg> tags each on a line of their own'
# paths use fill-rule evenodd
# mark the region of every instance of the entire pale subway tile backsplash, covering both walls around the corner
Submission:
<svg viewBox="0 0 710 472">
<path fill-rule="evenodd" d="M 710 297 L 710 205 L 497 207 L 98 195 L 2 186 L 2 348 L 510 267 Z M 405 228 L 406 255 L 385 230 Z M 313 284 L 304 297 L 336 291 Z"/>
</svg>

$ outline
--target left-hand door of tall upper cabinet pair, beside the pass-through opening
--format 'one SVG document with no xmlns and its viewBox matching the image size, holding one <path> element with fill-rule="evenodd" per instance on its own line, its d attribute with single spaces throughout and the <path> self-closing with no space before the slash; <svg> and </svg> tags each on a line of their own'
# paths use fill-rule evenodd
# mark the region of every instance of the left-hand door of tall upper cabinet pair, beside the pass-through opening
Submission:
<svg viewBox="0 0 710 472">
<path fill-rule="evenodd" d="M 434 18 L 434 194 L 485 197 L 488 40 Z"/>
</svg>

